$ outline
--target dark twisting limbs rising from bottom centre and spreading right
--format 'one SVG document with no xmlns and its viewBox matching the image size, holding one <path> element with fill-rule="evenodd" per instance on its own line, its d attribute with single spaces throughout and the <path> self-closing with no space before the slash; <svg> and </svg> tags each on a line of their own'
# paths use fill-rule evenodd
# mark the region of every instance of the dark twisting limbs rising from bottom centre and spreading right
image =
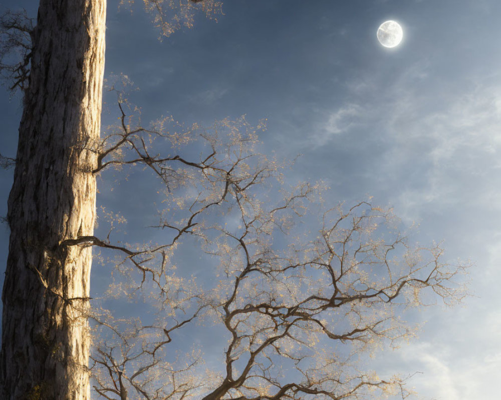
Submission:
<svg viewBox="0 0 501 400">
<path fill-rule="evenodd" d="M 368 387 L 396 387 L 405 396 L 400 379 L 377 380 L 365 375 L 348 379 L 352 367 L 348 360 L 335 356 L 307 372 L 301 382 L 271 378 L 271 369 L 277 369 L 277 375 L 276 365 L 285 362 L 279 359 L 289 358 L 302 371 L 312 342 L 320 341 L 325 346 L 326 340 L 331 340 L 365 347 L 408 335 L 409 328 L 390 311 L 401 303 L 422 304 L 427 288 L 445 301 L 462 296 L 462 287 L 456 287 L 453 278 L 463 266 L 442 264 L 438 246 L 412 249 L 398 233 L 388 237 L 389 241 L 375 237 L 374 232 L 380 235 L 394 217 L 391 211 L 365 201 L 348 212 L 341 208 L 325 212 L 321 235 L 300 251 L 294 250 L 289 256 L 270 249 L 264 252 L 256 244 L 259 235 L 268 232 L 259 229 L 275 222 L 275 214 L 287 210 L 292 199 L 306 198 L 301 190 L 285 199 L 286 206 L 250 217 L 243 212 L 248 209 L 243 205 L 248 200 L 242 197 L 238 202 L 242 203 L 243 233 L 235 235 L 222 229 L 225 237 L 235 242 L 231 253 L 241 250 L 244 266 L 235 275 L 226 300 L 217 307 L 230 339 L 222 381 L 204 400 L 301 399 L 309 394 L 332 399 L 365 398 Z M 329 223 L 332 211 L 337 211 L 338 217 Z M 403 257 L 393 256 L 402 251 Z M 298 252 L 303 254 L 301 262 Z M 419 252 L 427 252 L 431 259 L 419 260 Z M 228 266 L 233 262 L 234 258 L 229 258 Z M 259 286 L 261 290 L 257 290 Z M 400 301 L 394 302 L 397 298 Z M 317 353 L 315 357 L 319 356 Z M 240 368 L 235 376 L 237 362 Z M 315 371 L 325 369 L 331 374 L 315 377 Z"/>
</svg>

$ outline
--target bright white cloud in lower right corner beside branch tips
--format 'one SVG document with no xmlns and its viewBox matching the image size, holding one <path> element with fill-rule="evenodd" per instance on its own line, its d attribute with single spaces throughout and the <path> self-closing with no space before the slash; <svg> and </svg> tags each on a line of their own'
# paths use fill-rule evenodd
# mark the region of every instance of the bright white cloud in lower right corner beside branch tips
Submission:
<svg viewBox="0 0 501 400">
<path fill-rule="evenodd" d="M 420 399 L 499 397 L 495 382 L 501 368 L 501 311 L 487 310 L 479 299 L 468 303 L 453 311 L 434 312 L 418 341 L 380 359 L 388 373 L 420 372 L 407 381 Z M 495 307 L 495 303 L 489 306 Z"/>
</svg>

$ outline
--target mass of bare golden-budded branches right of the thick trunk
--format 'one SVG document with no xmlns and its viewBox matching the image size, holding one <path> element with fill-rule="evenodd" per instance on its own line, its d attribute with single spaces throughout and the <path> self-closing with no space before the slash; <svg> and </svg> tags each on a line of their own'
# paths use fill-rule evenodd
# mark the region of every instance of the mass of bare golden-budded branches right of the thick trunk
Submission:
<svg viewBox="0 0 501 400">
<path fill-rule="evenodd" d="M 404 377 L 378 378 L 357 359 L 413 334 L 400 319 L 405 308 L 437 296 L 459 300 L 464 287 L 454 279 L 463 266 L 442 263 L 438 245 L 409 245 L 389 209 L 362 201 L 319 212 L 321 183 L 286 190 L 283 162 L 255 148 L 265 121 L 253 127 L 225 119 L 177 131 L 166 118 L 145 129 L 132 127 L 125 108 L 100 144 L 105 157 L 97 169 L 139 165 L 158 176 L 165 207 L 154 227 L 170 239 L 66 242 L 124 254 L 108 295 L 145 302 L 141 317 L 98 302 L 90 312 L 96 392 L 148 400 L 405 397 Z M 162 148 L 165 154 L 155 152 Z M 182 155 L 190 148 L 200 151 L 198 160 Z M 212 279 L 198 284 L 176 272 L 183 243 L 212 256 Z M 198 344 L 178 343 L 181 334 L 227 342 L 208 366 Z"/>
</svg>

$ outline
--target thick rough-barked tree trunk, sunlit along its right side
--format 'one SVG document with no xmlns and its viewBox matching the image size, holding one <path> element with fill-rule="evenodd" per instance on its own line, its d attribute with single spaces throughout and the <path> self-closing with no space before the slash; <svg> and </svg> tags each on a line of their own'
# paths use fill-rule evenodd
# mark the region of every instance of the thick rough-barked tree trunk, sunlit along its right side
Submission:
<svg viewBox="0 0 501 400">
<path fill-rule="evenodd" d="M 41 0 L 9 197 L 2 399 L 89 400 L 86 318 L 106 0 Z"/>
</svg>

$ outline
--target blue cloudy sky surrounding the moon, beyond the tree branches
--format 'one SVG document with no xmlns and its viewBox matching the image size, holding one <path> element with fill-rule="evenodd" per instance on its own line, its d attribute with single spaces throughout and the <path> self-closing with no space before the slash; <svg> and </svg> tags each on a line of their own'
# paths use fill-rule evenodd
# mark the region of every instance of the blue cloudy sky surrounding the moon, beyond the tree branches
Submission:
<svg viewBox="0 0 501 400">
<path fill-rule="evenodd" d="M 143 120 L 268 118 L 263 148 L 302 154 L 289 180 L 325 180 L 332 203 L 373 196 L 417 225 L 414 240 L 443 240 L 447 260 L 471 260 L 472 295 L 415 316 L 427 321 L 419 337 L 388 355 L 385 368 L 422 372 L 410 385 L 427 399 L 498 398 L 501 3 L 226 0 L 217 22 L 199 16 L 161 41 L 140 8 L 117 3 L 108 3 L 105 74 L 124 73 L 140 88 L 131 96 Z M 0 4 L 36 16 L 36 0 Z M 389 19 L 404 32 L 394 48 L 376 38 Z M 105 100 L 103 125 L 117 115 L 113 96 Z M 14 157 L 19 95 L 1 90 L 0 109 L 0 152 Z M 12 177 L 0 170 L 0 215 Z M 104 191 L 98 202 L 124 214 L 131 207 Z M 7 248 L 3 224 L 0 268 Z"/>
</svg>

